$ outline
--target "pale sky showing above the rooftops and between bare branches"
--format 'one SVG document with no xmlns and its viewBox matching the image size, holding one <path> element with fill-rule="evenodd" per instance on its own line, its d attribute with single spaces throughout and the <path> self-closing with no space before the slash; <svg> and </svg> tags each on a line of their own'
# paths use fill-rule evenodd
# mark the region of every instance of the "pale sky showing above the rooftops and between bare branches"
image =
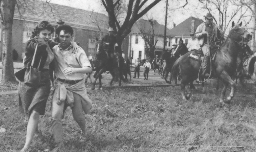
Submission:
<svg viewBox="0 0 256 152">
<path fill-rule="evenodd" d="M 42 0 L 42 1 L 46 1 L 46 0 Z M 101 0 L 48 0 L 48 1 L 50 3 L 70 6 L 70 7 L 88 10 L 88 11 L 94 10 L 95 12 L 104 13 L 108 15 L 107 12 L 105 11 L 104 6 L 102 5 Z M 147 6 L 148 3 L 151 3 L 153 1 L 154 0 L 148 0 L 145 6 Z M 186 4 L 186 0 L 168 0 L 168 9 L 179 8 L 181 6 L 184 6 L 185 4 Z M 152 16 L 152 18 L 157 20 L 159 24 L 164 25 L 165 24 L 165 7 L 166 7 L 166 0 L 162 0 L 157 5 L 155 5 L 151 10 L 149 10 L 147 15 L 149 17 Z M 201 5 L 199 4 L 198 0 L 189 0 L 189 4 L 187 4 L 184 8 L 180 8 L 175 11 L 168 11 L 167 28 L 169 29 L 172 28 L 173 23 L 178 25 L 179 23 L 183 22 L 190 16 L 204 20 L 203 16 L 206 13 L 207 13 L 206 10 L 201 9 Z M 218 14 L 215 14 L 215 15 L 217 16 Z M 142 18 L 147 19 L 145 15 L 142 16 Z"/>
</svg>

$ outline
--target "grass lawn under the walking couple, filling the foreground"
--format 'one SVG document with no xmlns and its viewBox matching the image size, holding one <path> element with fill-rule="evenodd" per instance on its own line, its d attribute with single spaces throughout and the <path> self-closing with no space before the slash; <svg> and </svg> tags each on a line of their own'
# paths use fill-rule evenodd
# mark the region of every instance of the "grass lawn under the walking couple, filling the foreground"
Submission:
<svg viewBox="0 0 256 152">
<path fill-rule="evenodd" d="M 206 85 L 206 94 L 198 86 L 188 102 L 182 101 L 180 86 L 91 91 L 93 106 L 85 118 L 88 132 L 95 132 L 80 140 L 80 129 L 68 108 L 63 119 L 64 152 L 254 152 L 256 90 L 251 83 L 237 86 L 236 96 L 225 107 L 218 103 L 220 91 L 214 80 Z M 39 119 L 44 140 L 35 137 L 31 152 L 55 147 L 50 101 L 51 96 Z M 21 149 L 27 122 L 19 112 L 17 95 L 0 97 L 0 116 L 0 151 Z"/>
</svg>

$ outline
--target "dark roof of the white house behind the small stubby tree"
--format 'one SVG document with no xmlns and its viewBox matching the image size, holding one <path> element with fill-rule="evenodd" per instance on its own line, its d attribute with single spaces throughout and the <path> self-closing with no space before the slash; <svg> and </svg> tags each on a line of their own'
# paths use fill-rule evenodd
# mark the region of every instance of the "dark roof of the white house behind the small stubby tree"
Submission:
<svg viewBox="0 0 256 152">
<path fill-rule="evenodd" d="M 140 28 L 144 29 L 144 31 L 147 33 L 150 33 L 150 31 L 152 31 L 149 21 L 140 19 L 136 21 L 136 23 L 133 25 L 131 29 L 131 33 L 140 33 Z M 154 34 L 164 35 L 165 26 L 159 24 L 156 20 L 154 20 L 153 28 L 154 28 Z M 166 36 L 172 36 L 168 28 L 166 28 Z"/>
</svg>

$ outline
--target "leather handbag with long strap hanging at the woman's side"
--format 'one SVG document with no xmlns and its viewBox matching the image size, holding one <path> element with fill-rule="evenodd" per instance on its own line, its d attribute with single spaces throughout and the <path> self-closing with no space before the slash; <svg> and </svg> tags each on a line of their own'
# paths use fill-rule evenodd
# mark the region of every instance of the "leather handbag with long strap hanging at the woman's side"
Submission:
<svg viewBox="0 0 256 152">
<path fill-rule="evenodd" d="M 39 71 L 39 65 L 40 65 L 42 56 L 40 58 L 38 67 L 34 68 L 34 61 L 35 61 L 35 56 L 37 52 L 37 47 L 38 45 L 36 46 L 35 53 L 31 62 L 31 66 L 27 68 L 24 75 L 24 83 L 30 86 L 35 86 L 35 87 L 40 85 L 40 80 L 41 80 L 41 72 Z"/>
</svg>

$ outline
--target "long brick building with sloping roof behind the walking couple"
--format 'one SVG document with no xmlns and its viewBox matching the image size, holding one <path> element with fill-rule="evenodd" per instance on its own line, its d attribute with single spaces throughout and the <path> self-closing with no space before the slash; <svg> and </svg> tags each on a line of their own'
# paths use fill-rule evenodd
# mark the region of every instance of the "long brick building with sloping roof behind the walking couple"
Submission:
<svg viewBox="0 0 256 152">
<path fill-rule="evenodd" d="M 24 1 L 20 2 L 24 3 Z M 108 16 L 58 4 L 50 3 L 48 5 L 40 0 L 26 0 L 25 2 L 26 4 L 15 6 L 13 17 L 13 49 L 19 55 L 18 61 L 21 61 L 25 55 L 25 42 L 28 40 L 31 32 L 38 22 L 43 20 L 49 21 L 56 29 L 57 21 L 62 19 L 65 22 L 64 24 L 70 25 L 73 28 L 73 40 L 80 43 L 80 46 L 87 55 L 95 56 L 96 37 L 100 39 L 102 35 L 99 33 L 97 25 L 90 20 L 90 15 L 93 21 L 97 20 L 98 25 L 103 31 L 108 28 Z M 52 37 L 55 37 L 55 33 L 52 34 Z"/>
</svg>

